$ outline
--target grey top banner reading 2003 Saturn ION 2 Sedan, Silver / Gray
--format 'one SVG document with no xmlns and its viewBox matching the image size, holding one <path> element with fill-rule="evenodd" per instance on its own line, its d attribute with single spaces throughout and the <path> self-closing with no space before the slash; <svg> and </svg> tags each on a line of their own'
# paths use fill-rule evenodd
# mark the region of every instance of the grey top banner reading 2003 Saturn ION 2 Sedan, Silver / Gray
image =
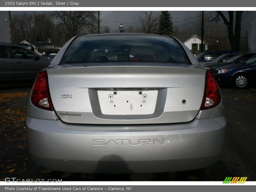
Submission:
<svg viewBox="0 0 256 192">
<path fill-rule="evenodd" d="M 256 7 L 252 0 L 5 0 L 1 7 Z"/>
</svg>

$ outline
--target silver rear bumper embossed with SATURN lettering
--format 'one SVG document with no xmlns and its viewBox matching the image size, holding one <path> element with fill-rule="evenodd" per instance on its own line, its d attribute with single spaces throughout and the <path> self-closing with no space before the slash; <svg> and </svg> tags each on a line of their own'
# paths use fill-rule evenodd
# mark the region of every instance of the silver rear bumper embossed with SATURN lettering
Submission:
<svg viewBox="0 0 256 192">
<path fill-rule="evenodd" d="M 182 124 L 78 125 L 27 118 L 30 155 L 44 169 L 86 173 L 170 172 L 218 161 L 225 117 Z"/>
</svg>

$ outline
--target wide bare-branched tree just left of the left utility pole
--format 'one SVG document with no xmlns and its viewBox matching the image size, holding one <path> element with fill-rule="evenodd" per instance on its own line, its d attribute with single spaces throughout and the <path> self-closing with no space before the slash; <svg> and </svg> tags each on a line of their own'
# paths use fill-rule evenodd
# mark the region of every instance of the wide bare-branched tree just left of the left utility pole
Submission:
<svg viewBox="0 0 256 192">
<path fill-rule="evenodd" d="M 96 33 L 98 19 L 96 11 L 54 11 L 52 16 L 63 28 L 63 33 L 68 38 L 78 34 Z"/>
</svg>

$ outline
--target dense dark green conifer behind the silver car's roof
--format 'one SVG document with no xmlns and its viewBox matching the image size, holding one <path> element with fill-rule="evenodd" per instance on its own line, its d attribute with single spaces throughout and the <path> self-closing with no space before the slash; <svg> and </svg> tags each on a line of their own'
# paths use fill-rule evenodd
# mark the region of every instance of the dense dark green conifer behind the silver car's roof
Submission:
<svg viewBox="0 0 256 192">
<path fill-rule="evenodd" d="M 159 30 L 160 35 L 172 35 L 172 16 L 168 11 L 162 11 L 159 19 Z"/>
</svg>

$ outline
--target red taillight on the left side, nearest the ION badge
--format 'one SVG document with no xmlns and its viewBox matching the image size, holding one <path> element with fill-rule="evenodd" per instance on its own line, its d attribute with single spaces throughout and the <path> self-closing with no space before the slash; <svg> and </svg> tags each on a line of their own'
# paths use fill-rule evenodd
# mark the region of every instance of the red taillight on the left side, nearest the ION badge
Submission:
<svg viewBox="0 0 256 192">
<path fill-rule="evenodd" d="M 53 111 L 46 71 L 40 72 L 36 77 L 31 94 L 31 101 L 38 108 Z"/>
</svg>

